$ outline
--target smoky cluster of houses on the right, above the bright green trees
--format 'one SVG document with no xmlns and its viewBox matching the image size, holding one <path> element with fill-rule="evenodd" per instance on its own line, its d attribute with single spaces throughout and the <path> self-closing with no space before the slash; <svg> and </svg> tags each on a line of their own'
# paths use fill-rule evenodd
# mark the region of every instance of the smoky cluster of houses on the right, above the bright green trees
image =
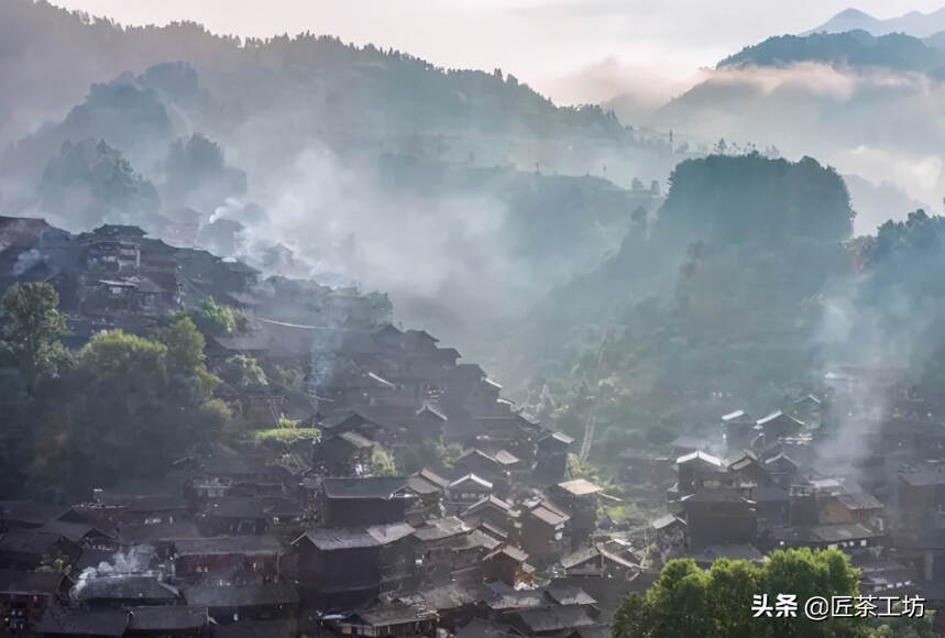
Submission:
<svg viewBox="0 0 945 638">
<path fill-rule="evenodd" d="M 763 561 L 779 548 L 838 549 L 860 590 L 945 606 L 945 403 L 895 371 L 840 367 L 816 395 L 755 418 L 745 410 L 622 454 L 622 480 L 663 495 L 631 530 L 645 562 Z"/>
</svg>

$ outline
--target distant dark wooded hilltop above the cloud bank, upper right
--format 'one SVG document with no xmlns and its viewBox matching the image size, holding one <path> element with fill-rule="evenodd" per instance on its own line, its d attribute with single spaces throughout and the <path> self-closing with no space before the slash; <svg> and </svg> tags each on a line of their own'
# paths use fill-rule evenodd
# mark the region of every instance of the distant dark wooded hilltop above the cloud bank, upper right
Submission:
<svg viewBox="0 0 945 638">
<path fill-rule="evenodd" d="M 789 66 L 820 63 L 848 67 L 878 67 L 897 72 L 932 72 L 945 67 L 945 52 L 904 33 L 876 37 L 866 31 L 778 35 L 746 46 L 718 63 L 717 68 Z"/>
</svg>

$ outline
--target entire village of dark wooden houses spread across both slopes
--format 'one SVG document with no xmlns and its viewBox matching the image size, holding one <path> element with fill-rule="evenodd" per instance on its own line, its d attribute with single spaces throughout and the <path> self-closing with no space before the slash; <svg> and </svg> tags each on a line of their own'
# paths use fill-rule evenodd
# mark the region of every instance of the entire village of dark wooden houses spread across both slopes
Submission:
<svg viewBox="0 0 945 638">
<path fill-rule="evenodd" d="M 629 526 L 605 515 L 626 496 L 569 472 L 580 443 L 395 326 L 383 295 L 264 277 L 134 227 L 73 235 L 35 219 L 0 218 L 0 273 L 3 289 L 57 289 L 72 348 L 208 297 L 238 309 L 245 329 L 207 337 L 210 370 L 250 356 L 305 383 L 218 394 L 259 429 L 318 432 L 213 441 L 79 503 L 0 502 L 13 635 L 603 637 L 671 559 L 799 547 L 849 554 L 865 594 L 945 603 L 945 406 L 881 371 L 840 367 L 767 415 L 730 406 L 624 451 L 613 484 L 652 513 Z M 823 457 L 851 425 L 867 453 Z M 395 472 L 376 471 L 378 449 Z M 452 452 L 430 466 L 431 449 Z"/>
</svg>

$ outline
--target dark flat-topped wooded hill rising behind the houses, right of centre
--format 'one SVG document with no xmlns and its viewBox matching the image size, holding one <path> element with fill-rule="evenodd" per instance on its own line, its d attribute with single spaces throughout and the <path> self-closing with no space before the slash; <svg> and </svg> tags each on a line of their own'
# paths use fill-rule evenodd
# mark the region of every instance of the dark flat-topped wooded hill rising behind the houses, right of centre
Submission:
<svg viewBox="0 0 945 638">
<path fill-rule="evenodd" d="M 812 158 L 683 162 L 618 254 L 531 317 L 521 339 L 551 397 L 537 409 L 581 437 L 596 405 L 606 462 L 733 402 L 777 404 L 835 353 L 816 336 L 825 295 L 855 276 L 853 216 L 843 179 Z"/>
</svg>

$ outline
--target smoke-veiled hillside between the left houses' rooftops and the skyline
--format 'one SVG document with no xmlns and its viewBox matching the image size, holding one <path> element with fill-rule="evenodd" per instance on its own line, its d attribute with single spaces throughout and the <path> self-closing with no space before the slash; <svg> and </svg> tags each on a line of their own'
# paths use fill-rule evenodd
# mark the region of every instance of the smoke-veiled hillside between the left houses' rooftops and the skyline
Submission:
<svg viewBox="0 0 945 638">
<path fill-rule="evenodd" d="M 681 158 L 513 74 L 329 36 L 125 28 L 29 0 L 0 6 L 0 36 L 6 213 L 389 290 L 398 318 L 468 348 L 616 250 Z"/>
</svg>

